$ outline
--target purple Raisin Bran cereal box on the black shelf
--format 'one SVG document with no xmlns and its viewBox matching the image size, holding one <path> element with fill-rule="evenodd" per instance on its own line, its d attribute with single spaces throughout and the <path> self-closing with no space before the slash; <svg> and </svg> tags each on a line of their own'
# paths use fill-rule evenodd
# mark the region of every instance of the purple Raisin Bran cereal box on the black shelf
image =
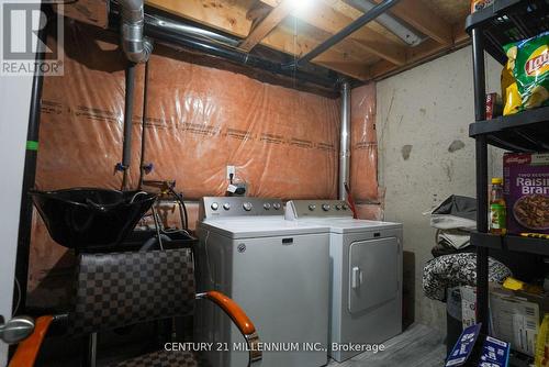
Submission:
<svg viewBox="0 0 549 367">
<path fill-rule="evenodd" d="M 549 153 L 503 156 L 507 232 L 549 234 Z"/>
</svg>

